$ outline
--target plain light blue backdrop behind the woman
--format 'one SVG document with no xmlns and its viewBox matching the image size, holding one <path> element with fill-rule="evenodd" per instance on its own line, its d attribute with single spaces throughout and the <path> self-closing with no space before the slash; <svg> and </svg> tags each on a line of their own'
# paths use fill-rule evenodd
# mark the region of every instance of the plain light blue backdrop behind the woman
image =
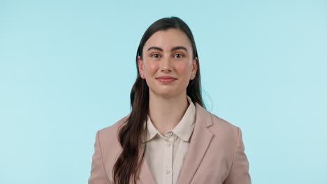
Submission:
<svg viewBox="0 0 327 184">
<path fill-rule="evenodd" d="M 252 183 L 327 183 L 324 0 L 0 1 L 0 183 L 87 183 L 96 130 L 130 112 L 140 38 L 173 15 Z"/>
</svg>

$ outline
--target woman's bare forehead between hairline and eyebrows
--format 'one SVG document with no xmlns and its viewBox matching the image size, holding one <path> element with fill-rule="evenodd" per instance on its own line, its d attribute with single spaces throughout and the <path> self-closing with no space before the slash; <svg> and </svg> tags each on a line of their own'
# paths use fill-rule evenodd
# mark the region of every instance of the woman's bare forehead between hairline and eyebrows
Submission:
<svg viewBox="0 0 327 184">
<path fill-rule="evenodd" d="M 145 43 L 143 51 L 149 47 L 161 47 L 163 50 L 171 47 L 184 46 L 191 51 L 191 41 L 179 29 L 167 29 L 154 33 Z"/>
</svg>

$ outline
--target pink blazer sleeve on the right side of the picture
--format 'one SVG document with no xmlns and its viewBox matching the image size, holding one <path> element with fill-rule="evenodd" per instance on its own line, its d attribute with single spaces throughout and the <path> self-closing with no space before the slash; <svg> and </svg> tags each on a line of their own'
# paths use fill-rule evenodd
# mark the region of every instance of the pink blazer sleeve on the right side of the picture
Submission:
<svg viewBox="0 0 327 184">
<path fill-rule="evenodd" d="M 224 184 L 251 184 L 249 162 L 244 151 L 245 146 L 242 141 L 242 131 L 238 128 L 238 139 L 235 145 L 231 171 L 224 181 Z"/>
</svg>

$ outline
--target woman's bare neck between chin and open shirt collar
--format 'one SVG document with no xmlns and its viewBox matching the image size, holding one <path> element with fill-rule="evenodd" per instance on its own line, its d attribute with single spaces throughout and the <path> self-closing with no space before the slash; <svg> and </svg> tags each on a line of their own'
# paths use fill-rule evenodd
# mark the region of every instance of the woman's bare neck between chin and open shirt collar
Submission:
<svg viewBox="0 0 327 184">
<path fill-rule="evenodd" d="M 149 116 L 161 135 L 166 135 L 175 128 L 188 107 L 186 93 L 173 97 L 163 97 L 151 92 L 149 94 Z"/>
</svg>

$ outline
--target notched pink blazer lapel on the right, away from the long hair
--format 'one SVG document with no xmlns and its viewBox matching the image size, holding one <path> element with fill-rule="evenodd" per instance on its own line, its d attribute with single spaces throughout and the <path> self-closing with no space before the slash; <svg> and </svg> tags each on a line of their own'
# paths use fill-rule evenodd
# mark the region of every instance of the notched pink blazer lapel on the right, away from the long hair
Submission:
<svg viewBox="0 0 327 184">
<path fill-rule="evenodd" d="M 208 130 L 210 125 L 212 119 L 209 112 L 196 103 L 196 124 L 177 183 L 191 183 L 213 137 L 212 132 Z"/>
</svg>

